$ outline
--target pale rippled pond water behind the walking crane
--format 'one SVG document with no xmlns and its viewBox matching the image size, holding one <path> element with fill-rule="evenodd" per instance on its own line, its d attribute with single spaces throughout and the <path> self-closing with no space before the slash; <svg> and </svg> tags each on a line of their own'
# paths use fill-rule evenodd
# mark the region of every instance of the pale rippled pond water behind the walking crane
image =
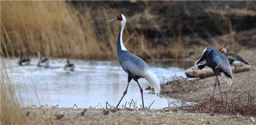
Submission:
<svg viewBox="0 0 256 125">
<path fill-rule="evenodd" d="M 127 74 L 117 61 L 71 60 L 75 64 L 73 72 L 63 70 L 65 59 L 50 59 L 48 69 L 37 67 L 36 59 L 32 59 L 29 66 L 17 66 L 16 61 L 17 59 L 2 59 L 2 64 L 7 65 L 9 77 L 21 95 L 20 101 L 24 107 L 46 104 L 50 107 L 58 104 L 58 107 L 69 108 L 76 104 L 79 108 L 101 108 L 105 107 L 106 102 L 116 106 L 127 85 Z M 159 65 L 159 62 L 151 62 L 149 65 L 160 83 L 171 80 L 173 76 L 185 77 L 184 68 Z M 149 85 L 144 79 L 140 79 L 139 83 L 143 89 Z M 143 96 L 145 107 L 155 101 L 152 105 L 155 109 L 168 107 L 168 102 L 189 105 L 187 102 L 156 96 L 147 90 L 143 91 Z M 133 80 L 120 106 L 132 99 L 139 107 L 140 90 Z"/>
</svg>

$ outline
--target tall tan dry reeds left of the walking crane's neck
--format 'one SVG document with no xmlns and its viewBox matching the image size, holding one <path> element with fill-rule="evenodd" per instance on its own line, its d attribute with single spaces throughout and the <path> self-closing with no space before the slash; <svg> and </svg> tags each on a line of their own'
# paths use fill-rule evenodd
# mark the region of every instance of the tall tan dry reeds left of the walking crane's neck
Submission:
<svg viewBox="0 0 256 125">
<path fill-rule="evenodd" d="M 1 2 L 1 9 L 1 48 L 8 54 L 23 48 L 27 55 L 42 51 L 52 57 L 113 57 L 119 24 L 106 21 L 116 16 L 115 10 L 98 10 L 101 24 L 96 26 L 90 7 L 80 13 L 64 1 Z"/>
</svg>

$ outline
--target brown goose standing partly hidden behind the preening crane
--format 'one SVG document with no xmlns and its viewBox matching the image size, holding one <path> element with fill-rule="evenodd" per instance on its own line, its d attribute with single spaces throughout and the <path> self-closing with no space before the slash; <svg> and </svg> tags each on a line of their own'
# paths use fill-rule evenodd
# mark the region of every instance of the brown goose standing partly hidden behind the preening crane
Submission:
<svg viewBox="0 0 256 125">
<path fill-rule="evenodd" d="M 241 67 L 241 66 L 244 66 L 244 65 L 249 65 L 246 61 L 244 61 L 244 59 L 239 56 L 237 53 L 234 53 L 234 52 L 228 52 L 228 49 L 227 48 L 220 48 L 220 52 L 222 54 L 224 54 L 228 61 L 229 61 L 229 64 L 230 65 L 233 65 L 234 66 L 234 72 L 233 73 L 236 73 L 236 69 L 237 67 Z"/>
</svg>

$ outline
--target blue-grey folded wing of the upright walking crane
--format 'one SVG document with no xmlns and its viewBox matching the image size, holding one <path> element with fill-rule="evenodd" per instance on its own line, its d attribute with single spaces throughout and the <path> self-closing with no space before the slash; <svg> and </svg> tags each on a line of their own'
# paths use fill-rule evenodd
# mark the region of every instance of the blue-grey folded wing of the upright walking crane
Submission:
<svg viewBox="0 0 256 125">
<path fill-rule="evenodd" d="M 131 72 L 134 76 L 139 76 L 144 78 L 145 71 L 148 69 L 148 65 L 137 57 L 136 55 L 126 51 L 122 53 L 122 56 L 119 57 L 119 62 L 127 73 L 128 71 Z"/>
</svg>

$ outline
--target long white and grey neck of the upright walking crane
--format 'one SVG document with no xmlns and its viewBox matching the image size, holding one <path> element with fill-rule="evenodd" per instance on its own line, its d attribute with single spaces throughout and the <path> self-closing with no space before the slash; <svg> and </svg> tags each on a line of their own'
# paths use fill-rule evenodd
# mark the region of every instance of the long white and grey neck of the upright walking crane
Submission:
<svg viewBox="0 0 256 125">
<path fill-rule="evenodd" d="M 123 16 L 123 20 L 121 21 L 121 28 L 120 28 L 120 32 L 118 34 L 118 40 L 117 40 L 117 53 L 121 52 L 121 51 L 127 51 L 127 49 L 125 48 L 125 46 L 123 45 L 123 41 L 122 41 L 122 36 L 123 36 L 123 30 L 125 27 L 125 23 L 126 23 L 126 19 Z"/>
</svg>

